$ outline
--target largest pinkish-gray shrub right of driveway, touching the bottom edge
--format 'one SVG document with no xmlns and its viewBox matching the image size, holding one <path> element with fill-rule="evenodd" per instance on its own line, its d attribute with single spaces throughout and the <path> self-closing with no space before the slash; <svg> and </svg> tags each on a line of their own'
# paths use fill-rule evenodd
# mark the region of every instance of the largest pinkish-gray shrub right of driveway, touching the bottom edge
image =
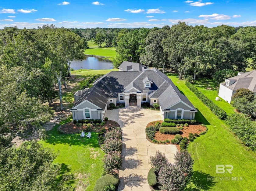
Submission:
<svg viewBox="0 0 256 191">
<path fill-rule="evenodd" d="M 178 166 L 166 163 L 159 172 L 158 182 L 164 190 L 183 190 L 186 177 Z"/>
</svg>

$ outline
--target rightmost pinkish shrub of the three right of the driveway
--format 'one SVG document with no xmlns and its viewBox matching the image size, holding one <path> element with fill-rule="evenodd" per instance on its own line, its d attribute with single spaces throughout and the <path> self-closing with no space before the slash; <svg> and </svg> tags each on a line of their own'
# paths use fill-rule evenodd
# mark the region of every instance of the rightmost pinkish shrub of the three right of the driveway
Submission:
<svg viewBox="0 0 256 191">
<path fill-rule="evenodd" d="M 174 155 L 174 164 L 180 167 L 183 174 L 187 174 L 187 176 L 191 175 L 194 161 L 191 155 L 186 150 L 176 152 L 176 154 Z"/>
</svg>

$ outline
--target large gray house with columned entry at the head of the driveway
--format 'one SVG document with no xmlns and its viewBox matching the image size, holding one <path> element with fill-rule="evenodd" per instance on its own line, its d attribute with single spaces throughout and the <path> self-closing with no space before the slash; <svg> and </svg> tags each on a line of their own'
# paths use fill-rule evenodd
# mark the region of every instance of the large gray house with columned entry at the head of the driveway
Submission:
<svg viewBox="0 0 256 191">
<path fill-rule="evenodd" d="M 89 89 L 74 94 L 73 119 L 104 119 L 110 103 L 125 104 L 137 109 L 141 104 L 159 104 L 162 118 L 194 119 L 196 108 L 180 93 L 173 82 L 155 68 L 124 61 L 119 71 L 111 71 L 98 78 Z"/>
</svg>

